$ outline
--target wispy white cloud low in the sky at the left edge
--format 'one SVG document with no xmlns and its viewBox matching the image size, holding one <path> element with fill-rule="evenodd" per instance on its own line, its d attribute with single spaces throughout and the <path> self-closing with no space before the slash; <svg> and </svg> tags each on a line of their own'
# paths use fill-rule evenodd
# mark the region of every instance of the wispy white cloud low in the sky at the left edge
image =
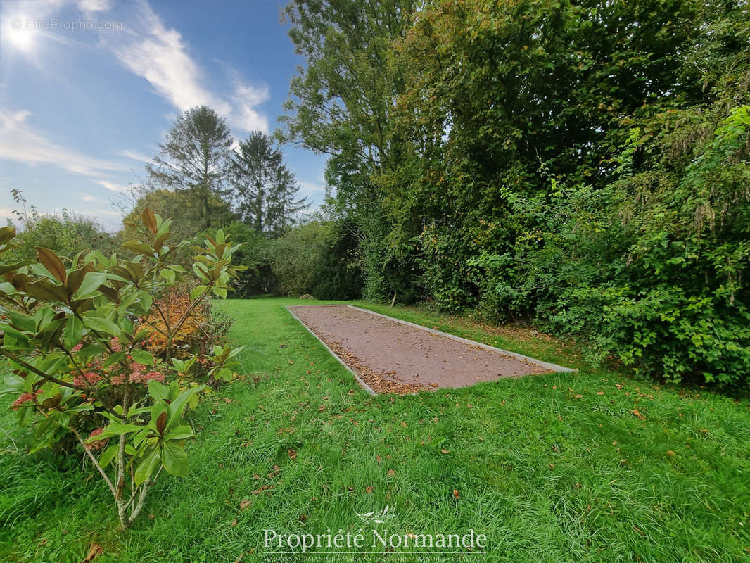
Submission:
<svg viewBox="0 0 750 563">
<path fill-rule="evenodd" d="M 28 116 L 31 112 L 0 108 L 0 158 L 25 164 L 54 164 L 82 176 L 105 176 L 107 171 L 127 170 L 122 164 L 53 143 L 28 125 Z"/>
</svg>

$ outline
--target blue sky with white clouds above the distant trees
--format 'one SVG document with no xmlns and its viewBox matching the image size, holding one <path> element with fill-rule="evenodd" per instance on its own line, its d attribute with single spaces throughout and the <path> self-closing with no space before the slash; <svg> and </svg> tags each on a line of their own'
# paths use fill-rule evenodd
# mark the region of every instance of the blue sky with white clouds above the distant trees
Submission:
<svg viewBox="0 0 750 563">
<path fill-rule="evenodd" d="M 111 203 L 145 176 L 175 116 L 207 104 L 235 137 L 272 132 L 294 54 L 283 2 L 3 0 L 0 224 L 20 188 L 40 212 L 120 227 Z M 323 199 L 325 158 L 285 146 L 301 194 Z"/>
</svg>

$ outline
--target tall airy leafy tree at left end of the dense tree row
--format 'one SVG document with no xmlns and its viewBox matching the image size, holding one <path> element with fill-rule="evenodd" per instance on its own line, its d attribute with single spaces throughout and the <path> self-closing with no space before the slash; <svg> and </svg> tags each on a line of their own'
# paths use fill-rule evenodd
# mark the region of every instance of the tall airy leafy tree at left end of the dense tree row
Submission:
<svg viewBox="0 0 750 563">
<path fill-rule="evenodd" d="M 384 242 L 391 231 L 389 191 L 406 186 L 392 182 L 410 154 L 410 137 L 398 134 L 393 113 L 404 92 L 404 68 L 391 64 L 392 44 L 413 23 L 416 0 L 293 0 L 285 15 L 290 38 L 304 56 L 290 86 L 287 114 L 280 118 L 284 137 L 331 155 L 330 174 L 347 178 L 331 183 L 332 200 L 347 222 L 358 225 L 367 278 L 367 297 L 398 291 L 413 294 L 411 269 L 401 267 L 401 245 Z M 419 230 L 417 230 L 419 232 Z M 402 230 L 399 238 L 415 233 Z"/>
</svg>

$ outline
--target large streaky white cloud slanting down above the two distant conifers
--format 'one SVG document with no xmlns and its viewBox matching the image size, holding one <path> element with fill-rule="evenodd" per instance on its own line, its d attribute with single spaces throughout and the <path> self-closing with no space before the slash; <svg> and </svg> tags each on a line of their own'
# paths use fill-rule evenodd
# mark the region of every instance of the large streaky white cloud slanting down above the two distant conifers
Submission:
<svg viewBox="0 0 750 563">
<path fill-rule="evenodd" d="M 139 2 L 139 17 L 132 25 L 114 34 L 102 35 L 102 41 L 133 74 L 148 80 L 157 95 L 184 111 L 207 105 L 229 125 L 252 131 L 268 131 L 266 116 L 256 107 L 270 98 L 268 86 L 248 86 L 233 69 L 233 92 L 229 99 L 204 86 L 205 72 L 190 57 L 182 35 L 164 26 L 148 2 Z"/>
</svg>

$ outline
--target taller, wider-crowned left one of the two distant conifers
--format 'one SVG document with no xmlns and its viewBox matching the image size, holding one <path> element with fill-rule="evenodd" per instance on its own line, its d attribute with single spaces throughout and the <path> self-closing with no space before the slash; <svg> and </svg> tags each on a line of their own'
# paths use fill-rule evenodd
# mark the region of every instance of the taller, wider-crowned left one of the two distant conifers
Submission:
<svg viewBox="0 0 750 563">
<path fill-rule="evenodd" d="M 167 131 L 159 155 L 146 165 L 148 179 L 162 188 L 189 192 L 205 229 L 211 224 L 211 196 L 228 193 L 231 144 L 223 117 L 210 107 L 193 107 Z"/>
</svg>

